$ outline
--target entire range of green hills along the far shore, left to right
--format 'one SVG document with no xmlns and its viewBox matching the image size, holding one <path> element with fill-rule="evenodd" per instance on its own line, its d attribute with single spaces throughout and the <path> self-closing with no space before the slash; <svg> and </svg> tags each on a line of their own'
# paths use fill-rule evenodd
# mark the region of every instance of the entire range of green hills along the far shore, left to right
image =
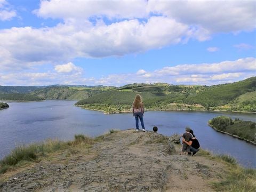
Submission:
<svg viewBox="0 0 256 192">
<path fill-rule="evenodd" d="M 256 77 L 213 86 L 167 83 L 133 83 L 121 87 L 102 85 L 0 86 L 0 100 L 79 100 L 76 105 L 107 111 L 107 113 L 130 111 L 135 94 L 142 95 L 145 108 L 148 110 L 256 112 Z"/>
</svg>

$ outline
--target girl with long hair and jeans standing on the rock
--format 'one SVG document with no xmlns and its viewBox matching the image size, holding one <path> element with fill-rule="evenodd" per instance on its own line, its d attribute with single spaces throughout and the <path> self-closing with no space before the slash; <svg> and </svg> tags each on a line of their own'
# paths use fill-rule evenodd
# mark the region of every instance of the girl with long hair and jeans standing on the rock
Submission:
<svg viewBox="0 0 256 192">
<path fill-rule="evenodd" d="M 133 116 L 135 117 L 136 132 L 139 132 L 139 118 L 142 126 L 142 131 L 146 132 L 144 122 L 143 122 L 144 107 L 143 107 L 141 96 L 139 94 L 135 96 L 135 99 L 132 103 L 132 112 L 133 112 Z"/>
</svg>

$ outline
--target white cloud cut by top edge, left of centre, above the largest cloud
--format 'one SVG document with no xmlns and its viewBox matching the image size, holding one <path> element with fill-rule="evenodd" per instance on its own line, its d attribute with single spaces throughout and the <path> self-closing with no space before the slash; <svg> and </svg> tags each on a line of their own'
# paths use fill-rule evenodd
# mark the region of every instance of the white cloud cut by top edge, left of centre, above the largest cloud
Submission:
<svg viewBox="0 0 256 192">
<path fill-rule="evenodd" d="M 87 19 L 90 17 L 145 18 L 147 1 L 93 1 L 93 0 L 52 0 L 41 1 L 40 8 L 35 10 L 39 17 L 60 19 Z"/>
</svg>

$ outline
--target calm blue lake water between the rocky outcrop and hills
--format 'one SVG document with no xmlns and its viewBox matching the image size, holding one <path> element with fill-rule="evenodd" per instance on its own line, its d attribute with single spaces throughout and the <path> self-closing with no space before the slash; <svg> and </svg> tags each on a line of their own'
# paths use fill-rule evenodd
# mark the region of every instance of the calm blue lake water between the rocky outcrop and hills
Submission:
<svg viewBox="0 0 256 192">
<path fill-rule="evenodd" d="M 10 108 L 0 110 L 0 158 L 15 146 L 43 141 L 47 138 L 73 140 L 75 134 L 91 137 L 110 129 L 125 130 L 135 127 L 132 114 L 105 115 L 99 111 L 75 107 L 76 101 L 47 100 L 42 102 L 9 102 Z M 247 167 L 256 167 L 256 147 L 245 141 L 214 131 L 209 119 L 226 115 L 245 121 L 255 121 L 255 114 L 220 113 L 207 111 L 147 111 L 146 129 L 158 126 L 158 133 L 182 134 L 189 125 L 201 147 L 218 154 L 234 156 Z"/>
</svg>

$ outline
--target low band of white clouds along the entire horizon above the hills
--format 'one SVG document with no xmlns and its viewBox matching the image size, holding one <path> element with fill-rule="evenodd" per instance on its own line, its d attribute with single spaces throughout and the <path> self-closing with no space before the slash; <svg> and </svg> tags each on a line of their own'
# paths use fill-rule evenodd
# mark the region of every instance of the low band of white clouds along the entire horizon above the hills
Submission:
<svg viewBox="0 0 256 192">
<path fill-rule="evenodd" d="M 106 77 L 84 77 L 79 67 L 73 63 L 56 66 L 53 71 L 44 73 L 15 72 L 1 74 L 0 83 L 4 85 L 114 85 L 131 83 L 157 83 L 187 85 L 214 85 L 241 81 L 255 76 L 256 58 L 243 58 L 219 63 L 199 63 L 164 67 L 154 71 L 140 69 L 134 73 L 110 74 Z"/>
</svg>

